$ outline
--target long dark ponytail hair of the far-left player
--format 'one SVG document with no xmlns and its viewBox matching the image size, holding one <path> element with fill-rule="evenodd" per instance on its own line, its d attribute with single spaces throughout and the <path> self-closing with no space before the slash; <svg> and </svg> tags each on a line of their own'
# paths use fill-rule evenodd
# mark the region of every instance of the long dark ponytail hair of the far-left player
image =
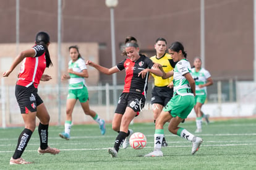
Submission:
<svg viewBox="0 0 256 170">
<path fill-rule="evenodd" d="M 49 55 L 49 50 L 47 44 L 49 43 L 49 35 L 46 32 L 39 32 L 36 34 L 35 38 L 36 45 L 42 45 L 45 48 L 45 59 L 46 59 L 46 67 L 53 66 L 53 62 L 51 62 L 51 57 Z"/>
</svg>

